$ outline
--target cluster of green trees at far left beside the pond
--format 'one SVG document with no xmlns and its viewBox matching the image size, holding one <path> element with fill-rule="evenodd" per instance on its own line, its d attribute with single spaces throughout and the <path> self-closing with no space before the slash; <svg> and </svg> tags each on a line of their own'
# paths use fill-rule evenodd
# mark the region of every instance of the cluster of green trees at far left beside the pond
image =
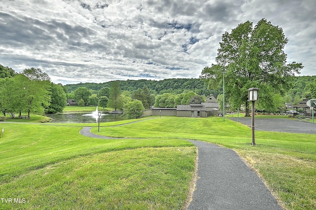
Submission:
<svg viewBox="0 0 316 210">
<path fill-rule="evenodd" d="M 50 81 L 40 69 L 16 73 L 0 65 L 0 111 L 12 118 L 18 113 L 56 113 L 66 106 L 67 96 L 61 84 Z"/>
</svg>

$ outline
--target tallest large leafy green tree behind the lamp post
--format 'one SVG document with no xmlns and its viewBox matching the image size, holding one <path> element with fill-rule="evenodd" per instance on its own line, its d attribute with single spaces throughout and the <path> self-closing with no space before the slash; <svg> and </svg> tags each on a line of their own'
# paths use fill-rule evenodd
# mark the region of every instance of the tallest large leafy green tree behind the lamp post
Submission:
<svg viewBox="0 0 316 210">
<path fill-rule="evenodd" d="M 301 63 L 286 64 L 283 48 L 287 42 L 283 30 L 266 19 L 254 28 L 249 21 L 239 24 L 222 36 L 217 64 L 205 67 L 200 77 L 206 79 L 209 88 L 219 89 L 225 75 L 225 98 L 230 107 L 245 105 L 249 116 L 248 88 L 269 91 L 265 95 L 259 92 L 261 107 L 269 107 L 268 98 L 283 95 L 291 87 L 294 74 L 303 68 Z"/>
</svg>

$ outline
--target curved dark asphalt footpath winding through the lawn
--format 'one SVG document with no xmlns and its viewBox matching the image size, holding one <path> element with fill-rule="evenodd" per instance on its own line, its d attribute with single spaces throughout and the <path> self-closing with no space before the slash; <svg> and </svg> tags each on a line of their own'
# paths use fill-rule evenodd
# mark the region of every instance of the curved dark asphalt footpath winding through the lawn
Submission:
<svg viewBox="0 0 316 210">
<path fill-rule="evenodd" d="M 81 135 L 104 137 L 83 127 Z M 130 138 L 128 138 L 130 139 Z M 282 210 L 262 180 L 232 149 L 189 140 L 198 149 L 196 190 L 188 210 Z"/>
</svg>

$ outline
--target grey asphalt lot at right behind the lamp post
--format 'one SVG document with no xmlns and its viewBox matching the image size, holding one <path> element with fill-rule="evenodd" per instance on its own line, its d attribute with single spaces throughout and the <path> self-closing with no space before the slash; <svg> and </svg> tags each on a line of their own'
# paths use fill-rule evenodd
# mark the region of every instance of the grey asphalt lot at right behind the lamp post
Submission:
<svg viewBox="0 0 316 210">
<path fill-rule="evenodd" d="M 229 119 L 237 121 L 237 117 L 231 117 Z M 251 117 L 239 117 L 239 123 L 242 123 L 251 128 Z M 316 134 L 316 119 L 314 119 L 313 124 L 311 122 L 301 122 L 292 119 L 255 118 L 255 130 Z"/>
</svg>

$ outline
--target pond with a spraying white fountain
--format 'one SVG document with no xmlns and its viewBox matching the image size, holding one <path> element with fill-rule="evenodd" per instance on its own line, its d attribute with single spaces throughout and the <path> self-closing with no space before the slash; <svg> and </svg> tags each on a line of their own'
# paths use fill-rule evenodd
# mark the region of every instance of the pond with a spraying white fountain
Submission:
<svg viewBox="0 0 316 210">
<path fill-rule="evenodd" d="M 91 114 L 91 112 L 69 112 L 69 113 L 57 113 L 46 114 L 47 117 L 52 118 L 51 123 L 96 123 L 94 116 L 82 116 L 82 114 Z M 112 122 L 125 120 L 121 113 L 113 114 L 106 111 L 102 111 L 102 114 L 109 114 L 107 116 L 101 116 L 100 122 Z"/>
</svg>

